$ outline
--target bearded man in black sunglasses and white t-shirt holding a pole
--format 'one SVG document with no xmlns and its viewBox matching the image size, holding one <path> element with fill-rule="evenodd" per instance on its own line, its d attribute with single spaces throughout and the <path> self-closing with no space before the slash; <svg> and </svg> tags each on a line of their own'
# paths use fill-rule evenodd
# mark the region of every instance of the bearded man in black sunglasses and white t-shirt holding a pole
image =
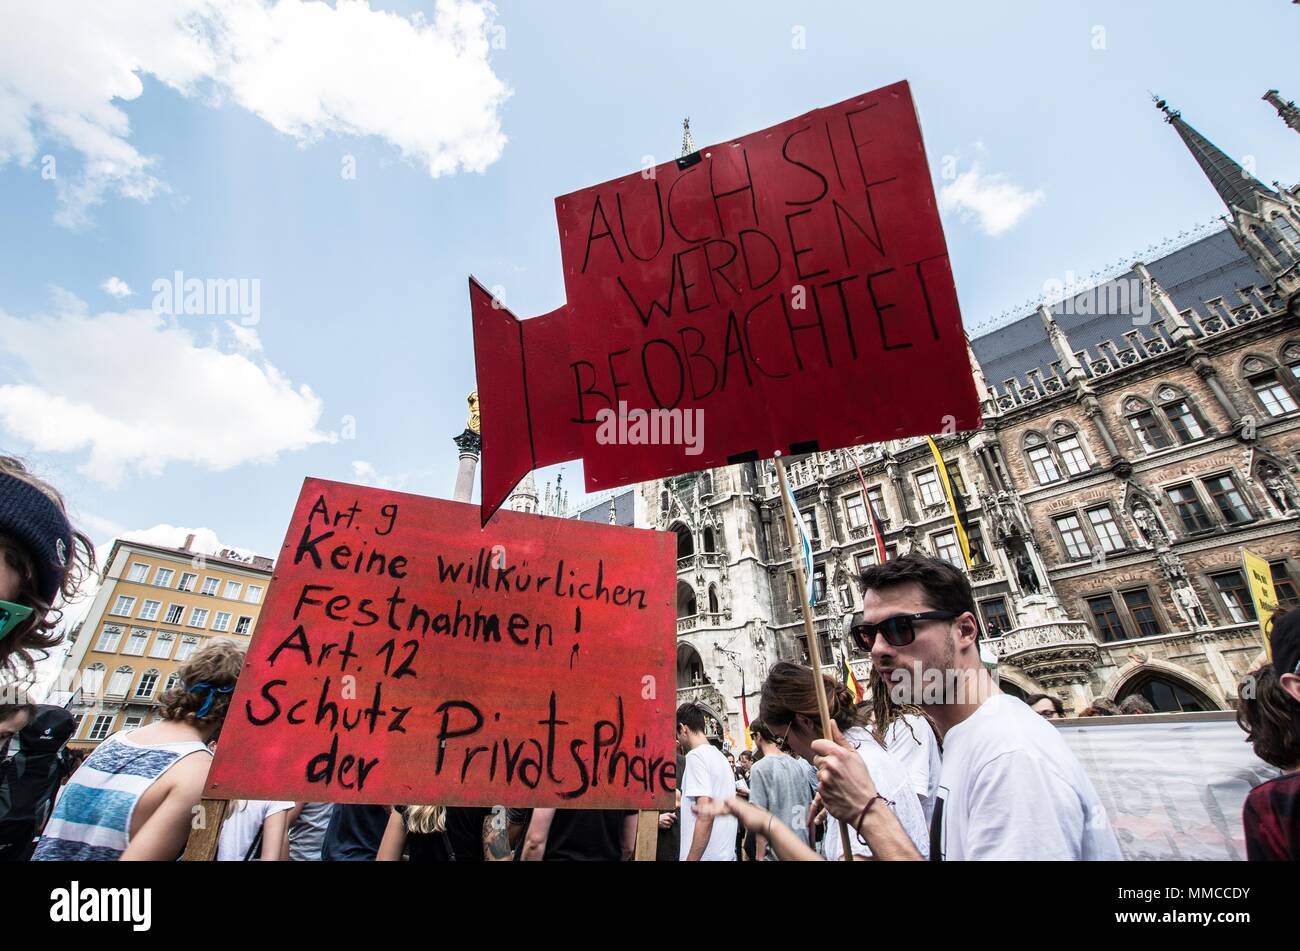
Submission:
<svg viewBox="0 0 1300 951">
<path fill-rule="evenodd" d="M 1121 859 L 1097 791 L 1057 729 L 1001 692 L 980 661 L 966 576 L 905 555 L 863 572 L 862 590 L 853 639 L 894 700 L 918 703 L 941 734 L 931 859 Z M 878 859 L 919 859 L 862 759 L 840 742 L 812 750 L 831 815 L 854 825 Z"/>
</svg>

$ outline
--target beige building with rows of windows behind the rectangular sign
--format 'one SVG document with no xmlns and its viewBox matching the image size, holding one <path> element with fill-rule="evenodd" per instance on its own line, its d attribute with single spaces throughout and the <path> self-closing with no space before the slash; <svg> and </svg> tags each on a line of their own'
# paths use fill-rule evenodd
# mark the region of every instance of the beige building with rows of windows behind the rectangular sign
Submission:
<svg viewBox="0 0 1300 951">
<path fill-rule="evenodd" d="M 73 747 L 156 720 L 177 669 L 208 639 L 247 646 L 274 563 L 231 550 L 203 555 L 192 542 L 113 542 L 58 685 L 77 717 Z"/>
</svg>

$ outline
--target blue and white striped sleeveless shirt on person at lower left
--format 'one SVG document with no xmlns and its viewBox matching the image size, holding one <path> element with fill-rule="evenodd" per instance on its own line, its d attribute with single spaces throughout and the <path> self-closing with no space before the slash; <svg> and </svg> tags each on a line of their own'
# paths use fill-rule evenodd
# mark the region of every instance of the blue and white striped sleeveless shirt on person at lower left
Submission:
<svg viewBox="0 0 1300 951">
<path fill-rule="evenodd" d="M 162 773 L 192 752 L 198 741 L 140 746 L 125 733 L 100 743 L 73 773 L 36 843 L 34 861 L 117 861 L 131 841 L 131 816 Z"/>
</svg>

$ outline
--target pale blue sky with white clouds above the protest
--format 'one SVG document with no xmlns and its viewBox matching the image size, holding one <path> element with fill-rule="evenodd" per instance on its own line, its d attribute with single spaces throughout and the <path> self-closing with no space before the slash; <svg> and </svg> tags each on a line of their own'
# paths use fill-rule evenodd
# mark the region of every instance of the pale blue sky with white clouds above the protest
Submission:
<svg viewBox="0 0 1300 951">
<path fill-rule="evenodd" d="M 1300 95 L 1288 68 L 1300 9 L 1280 1 L 1228 17 L 1208 0 L 503 0 L 481 27 L 486 57 L 445 71 L 430 66 L 432 47 L 408 42 L 428 25 L 382 18 L 373 36 L 339 43 L 356 30 L 316 10 L 322 47 L 295 55 L 324 66 L 196 79 L 164 55 L 165 18 L 148 19 L 148 4 L 138 30 L 130 17 L 105 30 L 78 27 L 75 12 L 18 12 L 38 6 L 0 13 L 10 38 L 0 40 L 0 104 L 31 79 L 23 70 L 51 69 L 51 51 L 60 69 L 26 83 L 26 118 L 0 118 L 0 446 L 55 482 L 98 542 L 170 525 L 274 555 L 306 476 L 450 495 L 451 437 L 474 385 L 467 275 L 502 285 L 523 316 L 559 305 L 552 199 L 646 155 L 673 157 L 686 114 L 705 146 L 909 79 L 936 190 L 953 184 L 946 168 L 968 174 L 962 194 L 975 207 L 991 203 L 983 216 L 944 216 L 968 327 L 1045 281 L 1128 262 L 1222 213 L 1148 90 L 1252 157 L 1262 181 L 1290 183 L 1300 169 L 1300 136 L 1260 100 L 1270 87 Z M 260 0 L 230 6 L 254 40 L 294 29 L 263 16 Z M 352 4 L 350 14 L 380 23 L 367 19 L 380 10 L 434 18 L 432 3 Z M 1245 52 L 1227 29 L 1243 22 Z M 311 45 L 317 32 L 296 35 Z M 133 44 L 148 55 L 135 58 Z M 129 74 L 96 71 L 109 47 L 121 61 L 164 65 L 130 90 Z M 390 84 L 374 78 L 389 73 Z M 103 77 L 112 82 L 96 87 Z M 294 88 L 277 99 L 277 82 Z M 312 82 L 342 83 L 343 95 L 332 88 L 306 116 L 285 107 Z M 508 87 L 503 103 L 494 83 Z M 51 118 L 107 108 L 124 88 L 138 92 L 113 103 L 129 129 L 109 120 L 107 144 Z M 430 156 L 447 152 L 459 170 L 432 175 Z M 78 191 L 90 155 L 148 164 Z M 342 174 L 347 156 L 355 178 Z M 133 318 L 150 309 L 153 281 L 177 270 L 256 278 L 260 321 Z M 133 295 L 103 290 L 110 277 Z M 348 417 L 355 438 L 339 438 Z M 135 440 L 138 452 L 114 456 Z M 578 487 L 577 466 L 566 481 Z"/>
</svg>

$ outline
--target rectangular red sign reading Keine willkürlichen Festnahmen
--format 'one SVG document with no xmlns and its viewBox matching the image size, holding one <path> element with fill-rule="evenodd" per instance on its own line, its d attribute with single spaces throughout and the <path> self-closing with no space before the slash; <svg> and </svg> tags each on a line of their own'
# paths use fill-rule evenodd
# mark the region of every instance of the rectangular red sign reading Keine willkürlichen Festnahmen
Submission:
<svg viewBox="0 0 1300 951">
<path fill-rule="evenodd" d="M 671 807 L 671 535 L 307 479 L 205 795 Z"/>
</svg>

